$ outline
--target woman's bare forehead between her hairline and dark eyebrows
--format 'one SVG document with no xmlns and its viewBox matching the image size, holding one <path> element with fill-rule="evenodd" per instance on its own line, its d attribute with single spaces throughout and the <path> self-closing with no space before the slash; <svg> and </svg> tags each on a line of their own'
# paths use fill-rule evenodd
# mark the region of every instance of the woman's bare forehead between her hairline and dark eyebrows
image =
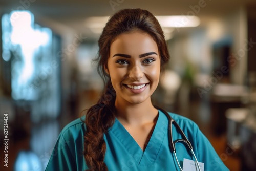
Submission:
<svg viewBox="0 0 256 171">
<path fill-rule="evenodd" d="M 152 51 L 158 53 L 158 46 L 149 34 L 143 32 L 123 33 L 117 36 L 110 46 L 110 54 L 136 55 Z"/>
</svg>

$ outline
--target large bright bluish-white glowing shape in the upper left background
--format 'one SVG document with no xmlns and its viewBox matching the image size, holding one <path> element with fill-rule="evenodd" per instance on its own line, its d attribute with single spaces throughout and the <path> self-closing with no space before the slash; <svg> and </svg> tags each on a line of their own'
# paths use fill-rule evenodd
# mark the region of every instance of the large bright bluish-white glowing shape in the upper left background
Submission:
<svg viewBox="0 0 256 171">
<path fill-rule="evenodd" d="M 2 17 L 3 59 L 12 61 L 12 97 L 15 100 L 35 99 L 35 93 L 28 86 L 35 76 L 35 54 L 51 42 L 49 28 L 36 27 L 30 11 L 12 11 Z"/>
</svg>

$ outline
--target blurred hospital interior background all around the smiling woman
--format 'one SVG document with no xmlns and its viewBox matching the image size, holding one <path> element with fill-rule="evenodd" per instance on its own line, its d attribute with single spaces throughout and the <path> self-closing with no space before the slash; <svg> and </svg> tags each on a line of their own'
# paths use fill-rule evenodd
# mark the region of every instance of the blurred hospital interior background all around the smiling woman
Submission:
<svg viewBox="0 0 256 171">
<path fill-rule="evenodd" d="M 152 100 L 194 120 L 230 170 L 255 170 L 254 0 L 0 1 L 0 169 L 45 170 L 63 126 L 99 98 L 97 40 L 123 8 L 181 15 L 160 22 L 171 59 Z"/>
</svg>

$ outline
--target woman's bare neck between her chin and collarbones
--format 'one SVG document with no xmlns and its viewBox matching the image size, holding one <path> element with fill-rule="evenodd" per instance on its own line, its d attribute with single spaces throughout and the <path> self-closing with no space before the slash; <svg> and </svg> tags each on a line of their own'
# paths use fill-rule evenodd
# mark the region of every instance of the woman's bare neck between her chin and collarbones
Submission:
<svg viewBox="0 0 256 171">
<path fill-rule="evenodd" d="M 148 122 L 154 122 L 158 115 L 158 110 L 154 108 L 151 98 L 140 104 L 115 101 L 116 118 L 123 125 L 143 125 Z"/>
</svg>

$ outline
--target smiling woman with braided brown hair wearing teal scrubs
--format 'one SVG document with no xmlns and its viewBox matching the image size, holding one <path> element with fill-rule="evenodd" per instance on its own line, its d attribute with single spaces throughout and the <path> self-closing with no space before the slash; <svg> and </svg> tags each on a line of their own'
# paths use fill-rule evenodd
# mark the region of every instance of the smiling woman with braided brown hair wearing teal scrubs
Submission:
<svg viewBox="0 0 256 171">
<path fill-rule="evenodd" d="M 150 12 L 117 12 L 98 44 L 104 92 L 85 120 L 77 119 L 62 130 L 46 170 L 180 170 L 178 163 L 184 158 L 196 159 L 184 143 L 176 144 L 178 162 L 170 152 L 167 115 L 188 137 L 200 167 L 204 163 L 204 170 L 228 170 L 193 121 L 164 115 L 151 102 L 169 54 Z M 172 133 L 174 140 L 182 138 L 175 126 Z"/>
</svg>

